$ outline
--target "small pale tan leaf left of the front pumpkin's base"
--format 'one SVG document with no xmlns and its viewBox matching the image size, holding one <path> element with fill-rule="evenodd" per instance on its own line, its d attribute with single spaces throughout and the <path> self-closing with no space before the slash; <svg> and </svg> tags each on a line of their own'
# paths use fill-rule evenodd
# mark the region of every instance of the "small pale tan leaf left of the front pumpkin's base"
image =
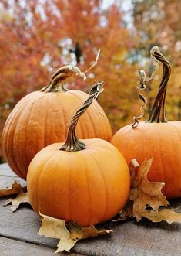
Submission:
<svg viewBox="0 0 181 256">
<path fill-rule="evenodd" d="M 9 203 L 12 203 L 11 209 L 12 209 L 12 212 L 14 212 L 15 210 L 18 209 L 21 203 L 29 203 L 28 192 L 19 193 L 18 196 L 16 196 L 15 198 L 9 198 L 5 202 L 4 207 L 7 206 Z"/>
</svg>

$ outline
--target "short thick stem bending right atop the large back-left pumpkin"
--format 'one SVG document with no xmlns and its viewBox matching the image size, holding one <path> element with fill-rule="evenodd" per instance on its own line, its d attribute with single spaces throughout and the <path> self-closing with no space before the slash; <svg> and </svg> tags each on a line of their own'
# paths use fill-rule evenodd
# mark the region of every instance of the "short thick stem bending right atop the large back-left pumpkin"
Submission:
<svg viewBox="0 0 181 256">
<path fill-rule="evenodd" d="M 63 81 L 75 74 L 79 77 L 86 79 L 85 73 L 83 73 L 79 67 L 73 67 L 72 65 L 65 65 L 60 67 L 53 73 L 51 80 L 47 87 L 42 88 L 41 91 L 52 92 L 52 91 L 66 91 L 63 87 Z"/>
</svg>

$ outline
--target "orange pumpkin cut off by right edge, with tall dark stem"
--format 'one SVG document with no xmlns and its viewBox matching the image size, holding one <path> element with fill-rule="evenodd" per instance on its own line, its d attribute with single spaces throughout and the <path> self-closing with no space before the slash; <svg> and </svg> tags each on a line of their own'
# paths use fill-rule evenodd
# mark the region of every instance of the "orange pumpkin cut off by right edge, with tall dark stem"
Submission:
<svg viewBox="0 0 181 256">
<path fill-rule="evenodd" d="M 151 54 L 163 63 L 163 80 L 149 119 L 139 122 L 137 128 L 132 125 L 121 128 L 113 136 L 112 144 L 128 164 L 134 158 L 143 162 L 153 156 L 149 180 L 165 182 L 163 194 L 175 198 L 181 196 L 181 121 L 166 121 L 164 104 L 171 67 L 158 47 L 153 47 Z"/>
</svg>

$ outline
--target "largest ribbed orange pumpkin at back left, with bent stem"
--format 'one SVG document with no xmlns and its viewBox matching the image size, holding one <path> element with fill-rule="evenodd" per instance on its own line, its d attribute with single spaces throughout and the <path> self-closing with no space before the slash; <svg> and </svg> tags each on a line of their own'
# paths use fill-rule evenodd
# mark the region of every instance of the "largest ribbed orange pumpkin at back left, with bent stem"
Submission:
<svg viewBox="0 0 181 256">
<path fill-rule="evenodd" d="M 49 85 L 23 97 L 9 115 L 2 133 L 2 146 L 12 170 L 26 179 L 29 163 L 46 145 L 64 142 L 72 112 L 88 94 L 65 90 L 63 81 L 72 75 L 85 77 L 77 67 L 64 66 L 52 76 Z M 96 125 L 99 124 L 99 125 Z M 110 141 L 112 131 L 106 114 L 97 101 L 80 119 L 80 138 L 103 138 Z"/>
</svg>

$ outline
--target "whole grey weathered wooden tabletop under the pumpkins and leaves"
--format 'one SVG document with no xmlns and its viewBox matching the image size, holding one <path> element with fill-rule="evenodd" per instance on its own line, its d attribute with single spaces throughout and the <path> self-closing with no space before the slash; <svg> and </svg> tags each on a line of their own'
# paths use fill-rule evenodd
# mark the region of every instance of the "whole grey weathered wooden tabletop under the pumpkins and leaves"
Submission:
<svg viewBox="0 0 181 256">
<path fill-rule="evenodd" d="M 9 179 L 19 179 L 7 164 L 0 165 L 0 186 Z M 6 199 L 0 200 L 0 256 L 48 256 L 53 255 L 57 240 L 38 236 L 39 216 L 30 207 L 20 207 L 12 213 L 10 207 L 3 207 Z M 173 200 L 172 206 L 181 205 Z M 153 224 L 149 220 L 126 220 L 119 224 L 108 223 L 113 229 L 111 235 L 79 241 L 71 256 L 145 256 L 181 255 L 181 224 L 166 222 Z M 65 254 L 62 254 L 65 255 Z"/>
</svg>

